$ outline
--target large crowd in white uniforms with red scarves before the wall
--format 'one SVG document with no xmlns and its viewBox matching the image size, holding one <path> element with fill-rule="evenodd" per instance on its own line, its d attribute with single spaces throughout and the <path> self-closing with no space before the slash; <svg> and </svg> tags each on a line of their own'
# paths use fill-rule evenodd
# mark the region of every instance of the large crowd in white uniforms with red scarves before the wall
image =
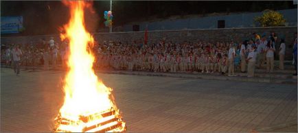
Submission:
<svg viewBox="0 0 298 133">
<path fill-rule="evenodd" d="M 104 42 L 93 48 L 95 68 L 115 70 L 146 70 L 152 72 L 220 72 L 233 76 L 235 69 L 254 75 L 255 66 L 262 68 L 266 61 L 268 72 L 273 72 L 276 38 L 255 34 L 249 41 L 236 42 L 197 42 L 172 43 L 162 40 L 156 44 L 123 44 Z M 279 48 L 279 68 L 284 69 L 285 44 Z M 62 65 L 67 61 L 67 50 L 58 48 L 53 38 L 42 51 L 41 59 L 45 70 L 49 62 L 56 68 L 58 60 Z M 8 54 L 9 55 L 9 54 Z M 38 57 L 36 57 L 38 58 Z M 60 59 L 59 59 L 60 58 Z"/>
</svg>

